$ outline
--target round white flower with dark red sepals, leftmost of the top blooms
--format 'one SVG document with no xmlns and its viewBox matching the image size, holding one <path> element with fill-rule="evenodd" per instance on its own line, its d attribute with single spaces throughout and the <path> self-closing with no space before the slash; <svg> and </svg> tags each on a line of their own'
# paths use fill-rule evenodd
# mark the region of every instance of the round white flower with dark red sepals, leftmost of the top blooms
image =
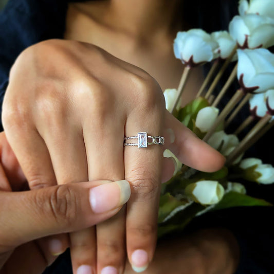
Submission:
<svg viewBox="0 0 274 274">
<path fill-rule="evenodd" d="M 190 66 L 216 58 L 217 54 L 214 56 L 213 52 L 217 47 L 218 44 L 202 29 L 177 32 L 173 44 L 175 57 Z"/>
</svg>

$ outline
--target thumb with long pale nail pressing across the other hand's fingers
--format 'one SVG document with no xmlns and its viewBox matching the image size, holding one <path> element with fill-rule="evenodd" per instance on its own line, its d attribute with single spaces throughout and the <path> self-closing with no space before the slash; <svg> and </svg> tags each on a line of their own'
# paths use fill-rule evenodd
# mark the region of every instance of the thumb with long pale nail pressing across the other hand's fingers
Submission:
<svg viewBox="0 0 274 274">
<path fill-rule="evenodd" d="M 8 250 L 47 235 L 93 226 L 116 214 L 130 193 L 126 180 L 0 192 L 1 246 Z"/>
</svg>

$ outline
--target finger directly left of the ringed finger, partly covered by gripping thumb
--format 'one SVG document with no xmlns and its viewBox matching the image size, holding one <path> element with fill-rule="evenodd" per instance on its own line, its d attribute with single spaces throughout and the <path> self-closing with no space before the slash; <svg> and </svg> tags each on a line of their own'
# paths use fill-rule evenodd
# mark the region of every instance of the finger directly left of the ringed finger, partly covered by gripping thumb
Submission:
<svg viewBox="0 0 274 274">
<path fill-rule="evenodd" d="M 101 113 L 112 113 L 108 109 L 99 109 Z M 90 117 L 91 115 L 87 115 Z M 118 116 L 118 115 L 117 115 Z M 87 119 L 83 126 L 84 141 L 88 162 L 88 179 L 121 180 L 124 178 L 123 137 L 124 120 L 116 120 L 107 114 L 104 120 L 97 119 L 91 126 Z M 99 124 L 97 124 L 99 123 Z M 96 144 L 96 145 L 95 145 Z M 125 210 L 96 226 L 97 237 L 97 273 L 113 271 L 122 273 L 125 261 Z M 116 272 L 115 272 L 116 271 Z"/>
</svg>

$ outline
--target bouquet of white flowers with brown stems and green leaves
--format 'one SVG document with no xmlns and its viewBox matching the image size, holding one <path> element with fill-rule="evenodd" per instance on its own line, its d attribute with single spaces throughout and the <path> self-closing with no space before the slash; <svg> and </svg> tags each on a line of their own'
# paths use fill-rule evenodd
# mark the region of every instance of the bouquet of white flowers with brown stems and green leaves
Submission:
<svg viewBox="0 0 274 274">
<path fill-rule="evenodd" d="M 271 206 L 248 196 L 245 186 L 234 180 L 274 182 L 271 165 L 258 158 L 244 158 L 245 151 L 274 125 L 274 54 L 267 49 L 274 45 L 274 0 L 240 0 L 239 13 L 230 22 L 229 32 L 208 34 L 191 29 L 178 32 L 174 40 L 175 57 L 185 64 L 185 69 L 178 88 L 164 92 L 166 108 L 227 161 L 221 170 L 205 173 L 182 166 L 172 152 L 164 152 L 165 157 L 174 158 L 176 167 L 161 190 L 159 236 L 184 228 L 192 218 L 210 210 Z M 211 69 L 196 99 L 180 107 L 189 72 L 207 62 L 211 62 Z M 235 62 L 234 69 L 217 96 L 213 96 L 231 62 Z M 217 106 L 236 78 L 239 89 L 220 111 Z M 250 115 L 234 134 L 227 134 L 229 124 L 248 102 Z M 251 130 L 239 140 L 238 135 L 248 126 Z"/>
</svg>

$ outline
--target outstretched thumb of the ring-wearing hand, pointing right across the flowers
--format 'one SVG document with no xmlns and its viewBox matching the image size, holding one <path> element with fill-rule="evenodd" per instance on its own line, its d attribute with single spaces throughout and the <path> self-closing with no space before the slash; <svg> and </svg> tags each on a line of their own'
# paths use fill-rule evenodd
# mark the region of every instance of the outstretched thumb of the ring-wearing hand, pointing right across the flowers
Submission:
<svg viewBox="0 0 274 274">
<path fill-rule="evenodd" d="M 168 111 L 165 117 L 165 147 L 185 165 L 205 172 L 221 169 L 225 157 L 200 140 Z"/>
</svg>

